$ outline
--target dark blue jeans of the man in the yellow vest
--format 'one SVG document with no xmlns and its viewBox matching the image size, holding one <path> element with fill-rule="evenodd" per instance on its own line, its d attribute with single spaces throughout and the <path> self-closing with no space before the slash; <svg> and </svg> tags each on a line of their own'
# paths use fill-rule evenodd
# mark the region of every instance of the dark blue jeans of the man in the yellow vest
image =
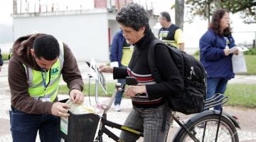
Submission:
<svg viewBox="0 0 256 142">
<path fill-rule="evenodd" d="M 57 116 L 10 111 L 11 135 L 14 142 L 35 142 L 39 130 L 41 142 L 60 142 Z"/>
</svg>

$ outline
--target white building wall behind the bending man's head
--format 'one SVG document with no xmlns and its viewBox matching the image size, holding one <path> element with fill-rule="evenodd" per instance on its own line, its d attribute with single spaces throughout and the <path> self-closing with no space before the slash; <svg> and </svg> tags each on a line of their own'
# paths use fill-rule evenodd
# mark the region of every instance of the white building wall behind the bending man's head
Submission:
<svg viewBox="0 0 256 142">
<path fill-rule="evenodd" d="M 63 40 L 79 61 L 109 60 L 107 13 L 14 17 L 14 39 L 33 31 Z"/>
</svg>

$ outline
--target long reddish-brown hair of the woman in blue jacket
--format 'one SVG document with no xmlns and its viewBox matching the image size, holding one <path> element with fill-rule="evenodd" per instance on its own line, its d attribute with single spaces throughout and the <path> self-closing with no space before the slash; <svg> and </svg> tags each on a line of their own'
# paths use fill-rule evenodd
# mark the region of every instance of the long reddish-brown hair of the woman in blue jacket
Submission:
<svg viewBox="0 0 256 142">
<path fill-rule="evenodd" d="M 231 28 L 228 26 L 228 28 L 225 28 L 224 31 L 221 31 L 220 29 L 220 20 L 223 18 L 225 13 L 229 13 L 226 9 L 218 9 L 213 13 L 212 20 L 210 22 L 209 29 L 213 29 L 214 33 L 220 36 L 228 36 L 231 34 Z"/>
</svg>

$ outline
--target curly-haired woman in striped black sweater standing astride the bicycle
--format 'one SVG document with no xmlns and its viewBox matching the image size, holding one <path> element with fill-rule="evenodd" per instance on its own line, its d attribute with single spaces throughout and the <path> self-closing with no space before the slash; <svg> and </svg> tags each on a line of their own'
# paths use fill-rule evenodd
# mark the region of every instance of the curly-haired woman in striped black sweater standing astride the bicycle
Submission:
<svg viewBox="0 0 256 142">
<path fill-rule="evenodd" d="M 134 14 L 135 13 L 135 14 Z M 132 99 L 132 111 L 124 126 L 143 131 L 145 142 L 164 142 L 171 124 L 171 109 L 164 107 L 164 96 L 179 93 L 184 84 L 178 68 L 165 45 L 156 45 L 156 67 L 163 82 L 156 83 L 149 69 L 150 44 L 155 39 L 149 27 L 149 15 L 138 4 L 128 4 L 117 13 L 116 20 L 124 38 L 134 45 L 134 53 L 127 68 L 100 65 L 100 72 L 113 73 L 114 79 L 135 77 L 138 85 L 127 87 L 124 94 Z M 139 94 L 139 95 L 136 95 Z M 166 119 L 164 118 L 166 116 Z M 164 126 L 164 129 L 161 129 Z M 139 136 L 122 131 L 122 141 L 137 141 Z"/>
</svg>

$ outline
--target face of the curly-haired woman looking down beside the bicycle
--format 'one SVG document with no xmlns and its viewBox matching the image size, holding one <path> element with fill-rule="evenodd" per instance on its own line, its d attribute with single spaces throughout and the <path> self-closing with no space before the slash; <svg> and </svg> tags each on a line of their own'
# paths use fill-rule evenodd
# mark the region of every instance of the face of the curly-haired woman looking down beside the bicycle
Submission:
<svg viewBox="0 0 256 142">
<path fill-rule="evenodd" d="M 145 31 L 144 26 L 140 28 L 139 31 L 136 31 L 133 28 L 124 26 L 122 24 L 120 24 L 120 28 L 123 31 L 124 38 L 130 44 L 137 43 L 137 41 L 139 41 L 144 36 L 144 31 Z"/>
</svg>

